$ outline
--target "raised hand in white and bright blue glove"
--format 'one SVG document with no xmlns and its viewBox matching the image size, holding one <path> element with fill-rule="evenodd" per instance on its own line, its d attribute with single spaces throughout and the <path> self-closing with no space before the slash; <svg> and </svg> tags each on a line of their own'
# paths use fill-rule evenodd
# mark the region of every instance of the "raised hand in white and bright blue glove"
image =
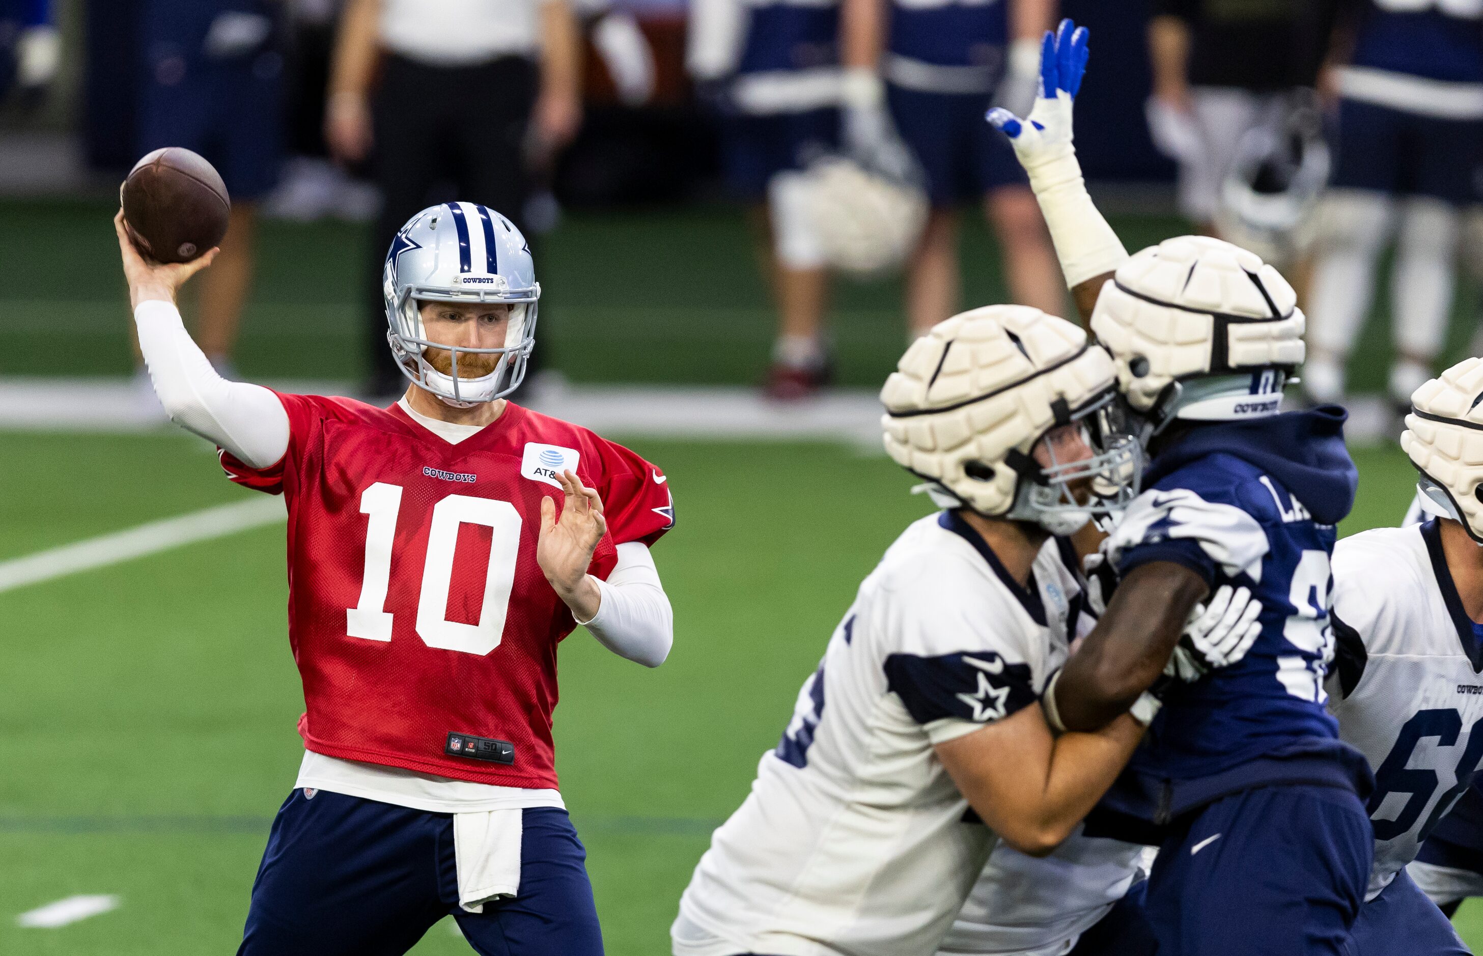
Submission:
<svg viewBox="0 0 1483 956">
<path fill-rule="evenodd" d="M 1022 120 L 1003 108 L 989 110 L 985 117 L 1010 138 L 1026 170 L 1034 172 L 1075 154 L 1071 145 L 1072 102 L 1087 71 L 1087 28 L 1069 19 L 1060 21 L 1056 33 L 1047 31 L 1040 53 L 1040 96 L 1029 117 Z"/>
</svg>

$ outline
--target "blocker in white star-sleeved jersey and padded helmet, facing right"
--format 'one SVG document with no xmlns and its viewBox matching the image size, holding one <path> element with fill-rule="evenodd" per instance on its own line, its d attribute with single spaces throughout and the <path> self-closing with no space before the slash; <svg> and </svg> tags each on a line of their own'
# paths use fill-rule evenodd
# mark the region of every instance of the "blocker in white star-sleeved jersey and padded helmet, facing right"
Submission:
<svg viewBox="0 0 1483 956">
<path fill-rule="evenodd" d="M 885 446 L 943 510 L 862 582 L 696 867 L 676 956 L 931 956 L 995 845 L 1022 852 L 995 879 L 1043 880 L 1014 913 L 995 912 L 1013 952 L 1065 953 L 1100 920 L 1136 922 L 1114 901 L 1139 848 L 1091 848 L 1075 831 L 1142 725 L 1124 713 L 1056 737 L 1040 704 L 1091 624 L 1065 535 L 1137 488 L 1115 387 L 1100 345 L 1029 307 L 964 313 L 906 351 L 882 390 Z M 1053 851 L 1069 855 L 1023 866 Z M 1062 879 L 1093 857 L 1099 880 Z M 1066 919 L 1035 923 L 1041 903 Z"/>
</svg>

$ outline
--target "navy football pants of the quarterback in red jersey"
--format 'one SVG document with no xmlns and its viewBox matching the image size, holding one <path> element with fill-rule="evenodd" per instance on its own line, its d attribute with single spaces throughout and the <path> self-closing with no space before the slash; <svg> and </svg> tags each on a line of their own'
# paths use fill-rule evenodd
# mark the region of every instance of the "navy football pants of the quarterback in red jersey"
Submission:
<svg viewBox="0 0 1483 956">
<path fill-rule="evenodd" d="M 451 814 L 294 790 L 252 883 L 239 956 L 399 956 L 452 913 L 483 956 L 602 956 L 567 811 L 525 811 L 521 894 L 458 909 Z"/>
</svg>

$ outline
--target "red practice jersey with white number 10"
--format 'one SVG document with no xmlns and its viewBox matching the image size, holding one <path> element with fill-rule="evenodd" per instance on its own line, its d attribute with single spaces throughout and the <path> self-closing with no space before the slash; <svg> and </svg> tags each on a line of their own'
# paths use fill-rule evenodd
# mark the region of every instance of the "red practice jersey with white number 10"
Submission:
<svg viewBox="0 0 1483 956">
<path fill-rule="evenodd" d="M 598 489 L 608 534 L 592 574 L 607 578 L 615 545 L 653 544 L 675 523 L 663 473 L 513 403 L 451 445 L 394 405 L 279 397 L 288 454 L 268 468 L 221 459 L 231 480 L 288 501 L 288 633 L 304 680 L 304 746 L 457 780 L 556 787 L 556 643 L 575 621 L 535 563 L 541 498 L 561 508 L 553 474 L 564 468 Z"/>
</svg>

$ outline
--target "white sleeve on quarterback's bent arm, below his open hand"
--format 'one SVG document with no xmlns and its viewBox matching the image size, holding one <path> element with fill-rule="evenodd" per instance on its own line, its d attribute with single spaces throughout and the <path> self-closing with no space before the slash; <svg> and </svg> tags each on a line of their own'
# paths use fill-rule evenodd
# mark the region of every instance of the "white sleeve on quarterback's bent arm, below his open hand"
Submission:
<svg viewBox="0 0 1483 956">
<path fill-rule="evenodd" d="M 645 667 L 658 667 L 675 642 L 675 612 L 658 582 L 658 569 L 648 545 L 626 541 L 618 545 L 618 563 L 607 581 L 598 580 L 602 603 L 598 617 L 577 621 L 618 657 Z"/>
</svg>

